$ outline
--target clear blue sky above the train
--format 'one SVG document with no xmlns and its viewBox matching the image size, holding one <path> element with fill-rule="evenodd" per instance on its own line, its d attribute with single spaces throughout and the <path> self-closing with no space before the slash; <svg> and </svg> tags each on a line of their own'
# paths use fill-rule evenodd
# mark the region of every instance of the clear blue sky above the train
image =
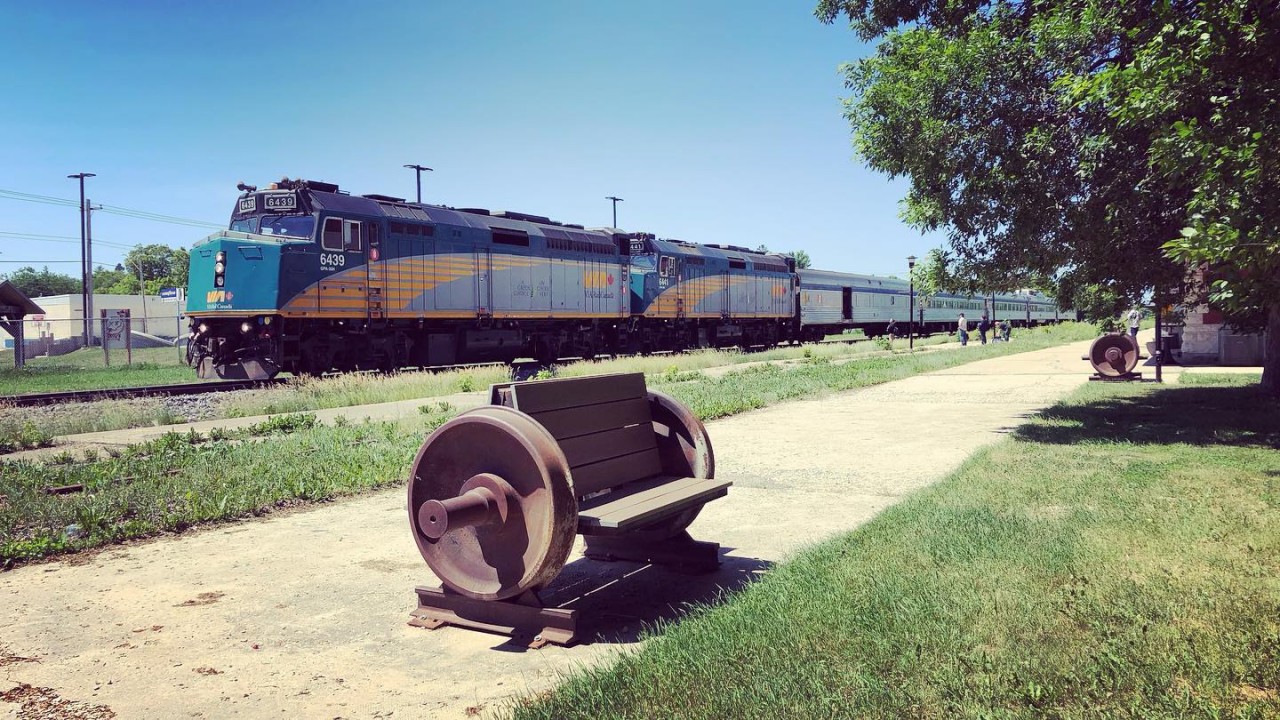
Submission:
<svg viewBox="0 0 1280 720">
<path fill-rule="evenodd" d="M 225 224 L 236 183 L 518 210 L 904 273 L 941 238 L 852 156 L 813 1 L 4 3 L 0 191 Z M 95 213 L 97 261 L 214 228 Z M 58 236 L 33 240 L 19 236 Z M 78 274 L 74 205 L 0 196 L 0 272 Z M 68 240 L 68 238 L 77 240 Z M 68 263 L 72 261 L 72 263 Z"/>
</svg>

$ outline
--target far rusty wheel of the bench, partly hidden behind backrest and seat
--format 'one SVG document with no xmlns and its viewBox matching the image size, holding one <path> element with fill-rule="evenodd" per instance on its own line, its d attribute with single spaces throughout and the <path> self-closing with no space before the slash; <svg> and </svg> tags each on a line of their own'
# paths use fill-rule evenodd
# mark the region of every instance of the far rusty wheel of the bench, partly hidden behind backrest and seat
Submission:
<svg viewBox="0 0 1280 720">
<path fill-rule="evenodd" d="M 689 407 L 667 393 L 650 389 L 649 414 L 653 416 L 653 429 L 658 434 L 658 454 L 662 456 L 664 474 L 685 478 L 716 477 L 712 438 L 707 434 L 703 421 Z M 684 532 L 700 511 L 701 506 L 691 507 L 635 530 L 635 534 L 667 539 Z"/>
</svg>

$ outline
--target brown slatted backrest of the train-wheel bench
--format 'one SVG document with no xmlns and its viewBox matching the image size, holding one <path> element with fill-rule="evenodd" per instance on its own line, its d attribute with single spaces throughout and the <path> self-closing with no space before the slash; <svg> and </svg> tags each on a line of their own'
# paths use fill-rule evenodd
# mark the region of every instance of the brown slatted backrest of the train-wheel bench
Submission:
<svg viewBox="0 0 1280 720">
<path fill-rule="evenodd" d="M 579 497 L 662 474 L 644 373 L 504 383 L 493 405 L 531 415 L 559 443 Z"/>
</svg>

